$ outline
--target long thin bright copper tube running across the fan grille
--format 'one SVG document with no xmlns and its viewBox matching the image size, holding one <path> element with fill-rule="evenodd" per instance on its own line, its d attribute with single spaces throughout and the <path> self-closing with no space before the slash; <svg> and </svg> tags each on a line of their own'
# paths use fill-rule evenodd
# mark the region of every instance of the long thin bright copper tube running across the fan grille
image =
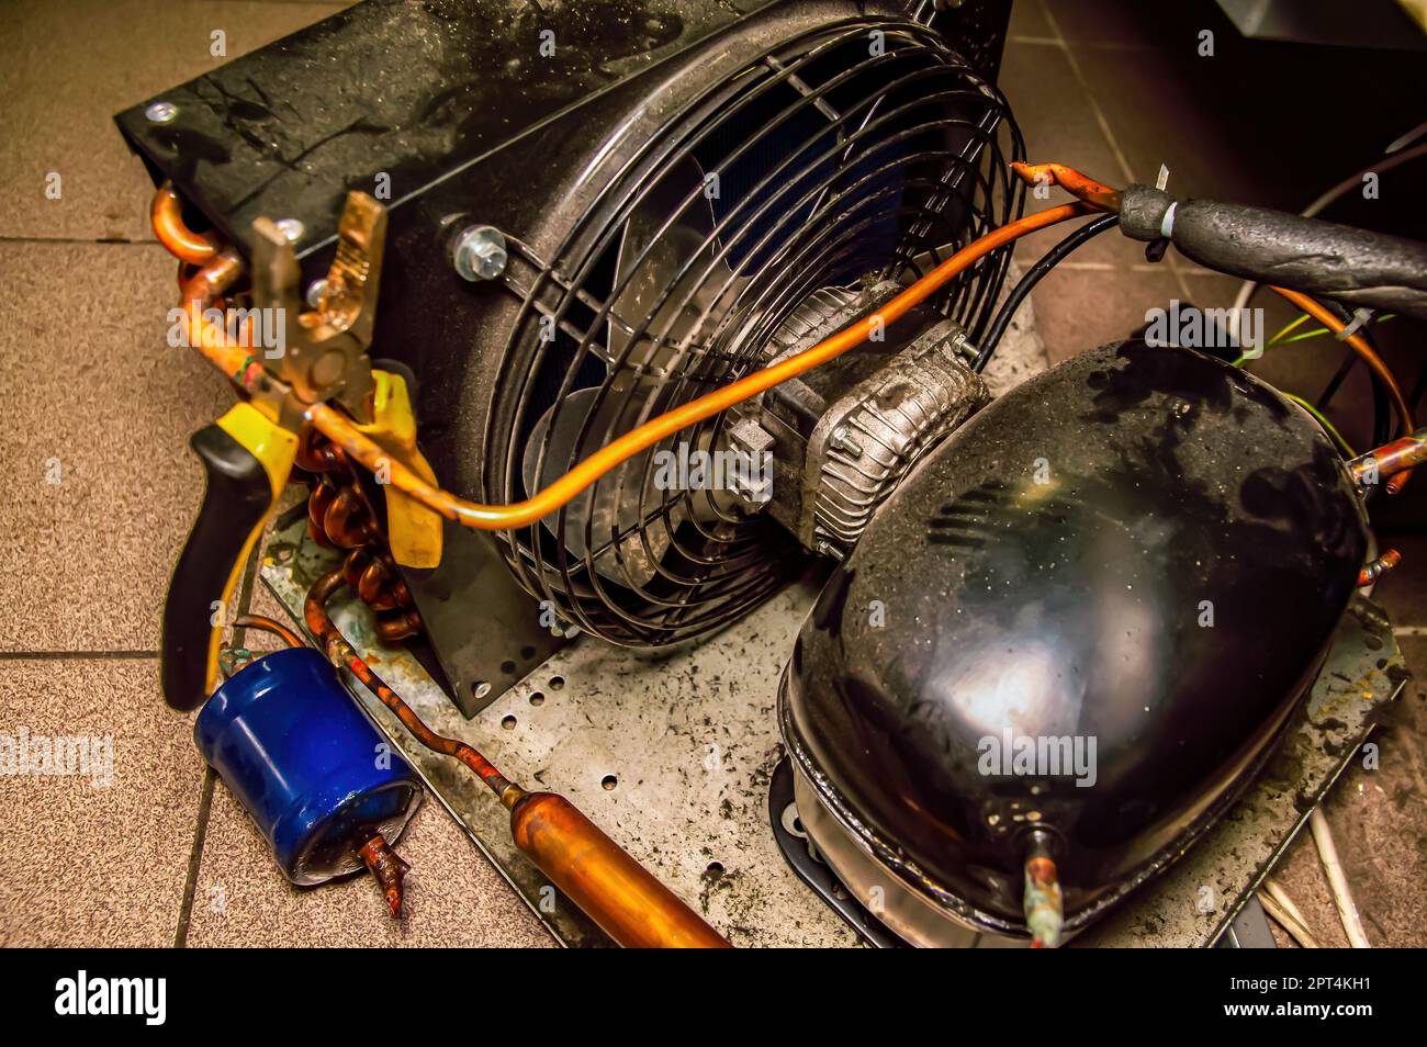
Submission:
<svg viewBox="0 0 1427 1047">
<path fill-rule="evenodd" d="M 795 352 L 778 364 L 753 371 L 735 382 L 706 392 L 656 418 L 651 418 L 648 422 L 635 427 L 625 435 L 599 448 L 569 472 L 524 502 L 481 505 L 434 486 L 402 465 L 401 461 L 392 459 L 381 445 L 361 432 L 340 411 L 327 404 L 313 404 L 307 409 L 307 418 L 315 429 L 337 444 L 351 458 L 357 459 L 364 468 L 371 472 L 387 472 L 391 485 L 397 491 L 401 491 L 404 495 L 411 496 L 447 519 L 478 531 L 505 531 L 525 526 L 568 505 L 601 476 L 668 436 L 696 422 L 714 418 L 751 397 L 756 397 L 789 378 L 806 374 L 826 364 L 829 359 L 862 345 L 875 330 L 900 320 L 992 251 L 1013 242 L 1027 233 L 1090 214 L 1090 205 L 1085 203 L 1065 204 L 1036 214 L 1027 214 L 1000 228 L 992 230 L 896 294 L 879 307 L 876 312 L 822 339 L 812 348 Z M 255 357 L 241 347 L 228 344 L 221 331 L 213 331 L 213 327 L 204 321 L 201 310 L 190 307 L 187 322 L 191 345 L 197 347 L 214 367 L 228 375 L 241 388 L 248 391 L 258 389 L 264 371 Z"/>
</svg>

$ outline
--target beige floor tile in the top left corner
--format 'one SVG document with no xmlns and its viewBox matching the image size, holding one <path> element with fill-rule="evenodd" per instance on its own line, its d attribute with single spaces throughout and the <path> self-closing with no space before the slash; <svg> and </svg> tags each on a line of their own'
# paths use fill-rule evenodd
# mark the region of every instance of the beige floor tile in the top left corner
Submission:
<svg viewBox="0 0 1427 1047">
<path fill-rule="evenodd" d="M 0 235 L 153 240 L 113 116 L 345 4 L 46 0 L 0 7 Z M 210 53 L 227 34 L 227 58 Z M 46 195 L 60 175 L 60 197 Z"/>
</svg>

